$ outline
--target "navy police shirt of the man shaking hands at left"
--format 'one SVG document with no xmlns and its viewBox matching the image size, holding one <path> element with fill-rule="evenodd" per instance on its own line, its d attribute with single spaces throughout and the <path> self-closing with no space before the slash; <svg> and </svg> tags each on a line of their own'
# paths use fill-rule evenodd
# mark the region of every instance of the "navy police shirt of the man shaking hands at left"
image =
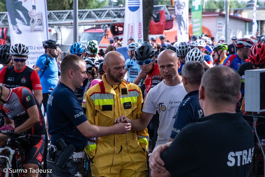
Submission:
<svg viewBox="0 0 265 177">
<path fill-rule="evenodd" d="M 76 126 L 87 121 L 85 113 L 72 89 L 59 83 L 52 91 L 47 103 L 47 116 L 51 144 L 62 138 L 67 145 L 84 149 L 87 138 Z"/>
</svg>

